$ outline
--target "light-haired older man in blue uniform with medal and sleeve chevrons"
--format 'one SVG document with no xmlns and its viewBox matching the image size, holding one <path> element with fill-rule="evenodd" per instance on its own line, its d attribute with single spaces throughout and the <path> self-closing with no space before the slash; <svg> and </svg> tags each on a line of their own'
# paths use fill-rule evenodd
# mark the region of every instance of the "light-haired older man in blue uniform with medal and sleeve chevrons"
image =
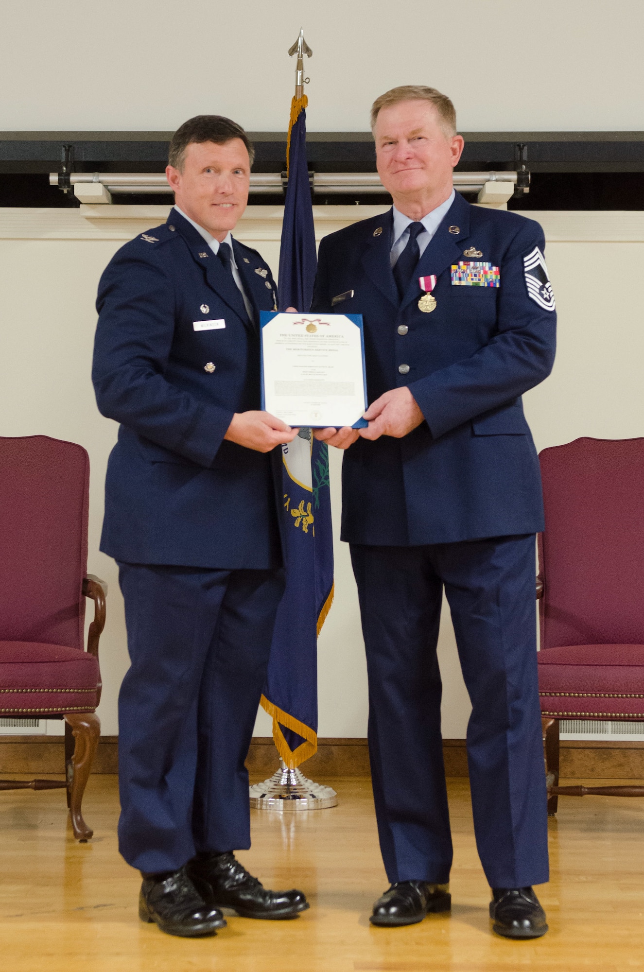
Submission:
<svg viewBox="0 0 644 972">
<path fill-rule="evenodd" d="M 535 639 L 539 464 L 521 395 L 550 373 L 555 301 L 541 227 L 456 195 L 449 99 L 398 87 L 372 111 L 393 209 L 325 237 L 312 310 L 361 313 L 369 427 L 347 451 L 342 539 L 369 673 L 369 746 L 391 887 L 376 925 L 447 911 L 452 849 L 436 656 L 443 589 L 472 701 L 474 826 L 493 928 L 547 929 L 546 781 Z"/>
</svg>

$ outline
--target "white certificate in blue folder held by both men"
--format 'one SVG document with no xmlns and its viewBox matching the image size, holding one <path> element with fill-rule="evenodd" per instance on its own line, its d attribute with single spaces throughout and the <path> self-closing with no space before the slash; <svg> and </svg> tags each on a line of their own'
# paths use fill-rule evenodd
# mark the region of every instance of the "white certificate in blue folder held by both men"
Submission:
<svg viewBox="0 0 644 972">
<path fill-rule="evenodd" d="M 291 427 L 367 426 L 360 314 L 262 311 L 261 329 L 266 411 Z"/>
</svg>

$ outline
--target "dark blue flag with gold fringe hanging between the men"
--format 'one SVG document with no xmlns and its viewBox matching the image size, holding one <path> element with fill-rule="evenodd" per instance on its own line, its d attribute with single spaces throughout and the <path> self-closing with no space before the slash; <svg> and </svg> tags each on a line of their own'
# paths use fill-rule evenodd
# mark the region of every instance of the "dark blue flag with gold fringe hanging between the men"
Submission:
<svg viewBox="0 0 644 972">
<path fill-rule="evenodd" d="M 288 186 L 279 254 L 279 309 L 306 313 L 317 258 L 306 159 L 307 99 L 293 99 Z M 333 601 L 329 452 L 310 429 L 282 446 L 286 590 L 277 611 L 262 706 L 272 738 L 294 768 L 317 749 L 317 636 Z"/>
</svg>

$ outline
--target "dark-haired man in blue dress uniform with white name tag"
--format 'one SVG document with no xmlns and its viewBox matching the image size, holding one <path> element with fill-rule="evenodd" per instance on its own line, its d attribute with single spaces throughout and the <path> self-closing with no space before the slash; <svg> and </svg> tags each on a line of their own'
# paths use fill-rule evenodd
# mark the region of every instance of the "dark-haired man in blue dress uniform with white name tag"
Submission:
<svg viewBox="0 0 644 972">
<path fill-rule="evenodd" d="M 139 868 L 142 920 L 183 936 L 219 908 L 290 918 L 235 860 L 250 847 L 244 759 L 284 572 L 276 483 L 297 434 L 260 410 L 268 264 L 231 235 L 248 200 L 243 129 L 197 116 L 170 143 L 167 223 L 101 277 L 92 378 L 120 423 L 101 550 L 119 562 L 131 667 L 119 699 L 120 849 Z M 277 460 L 277 478 L 273 463 Z"/>
</svg>

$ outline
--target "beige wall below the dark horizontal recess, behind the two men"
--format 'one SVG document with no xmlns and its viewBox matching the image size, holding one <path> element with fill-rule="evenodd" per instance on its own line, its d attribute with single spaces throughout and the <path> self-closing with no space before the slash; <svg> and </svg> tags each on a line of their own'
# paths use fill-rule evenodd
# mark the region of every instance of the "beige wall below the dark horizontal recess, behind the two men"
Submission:
<svg viewBox="0 0 644 972">
<path fill-rule="evenodd" d="M 103 213 L 115 207 L 103 207 Z M 167 212 L 158 207 L 162 216 Z M 371 215 L 366 207 L 316 209 L 318 238 Z M 138 212 L 130 209 L 130 213 Z M 644 434 L 641 363 L 644 310 L 639 267 L 644 213 L 536 213 L 546 230 L 559 339 L 555 370 L 525 396 L 539 449 L 579 435 Z M 274 269 L 281 210 L 249 207 L 237 236 L 256 246 Z M 125 239 L 160 222 L 86 219 L 78 210 L 0 210 L 0 434 L 48 434 L 89 451 L 89 570 L 110 583 L 101 643 L 105 683 L 103 732 L 117 729 L 116 699 L 127 666 L 123 603 L 114 563 L 98 552 L 102 489 L 116 425 L 97 412 L 89 381 L 100 273 Z M 340 523 L 340 456 L 332 456 L 335 528 Z M 355 585 L 345 544 L 336 544 L 336 603 L 319 641 L 319 732 L 363 736 L 367 687 Z M 91 609 L 89 609 L 91 613 Z M 446 689 L 444 735 L 461 737 L 469 713 L 447 612 L 441 631 Z M 269 735 L 263 713 L 257 731 Z"/>
</svg>

